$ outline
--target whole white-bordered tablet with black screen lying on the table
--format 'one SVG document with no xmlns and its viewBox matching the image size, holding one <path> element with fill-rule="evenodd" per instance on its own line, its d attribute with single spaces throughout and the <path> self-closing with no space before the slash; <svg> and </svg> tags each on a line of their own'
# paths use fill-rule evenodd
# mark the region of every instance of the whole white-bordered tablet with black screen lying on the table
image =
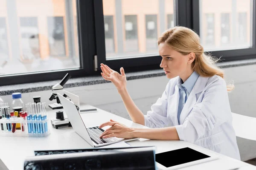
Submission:
<svg viewBox="0 0 256 170">
<path fill-rule="evenodd" d="M 215 159 L 218 157 L 206 155 L 189 147 L 156 154 L 157 167 L 162 170 L 175 170 Z"/>
</svg>

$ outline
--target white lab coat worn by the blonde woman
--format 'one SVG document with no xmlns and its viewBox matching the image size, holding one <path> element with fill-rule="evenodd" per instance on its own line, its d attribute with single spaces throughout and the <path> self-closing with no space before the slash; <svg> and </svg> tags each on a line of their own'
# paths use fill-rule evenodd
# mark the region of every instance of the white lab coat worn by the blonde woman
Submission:
<svg viewBox="0 0 256 170">
<path fill-rule="evenodd" d="M 145 126 L 175 126 L 180 140 L 240 160 L 226 82 L 219 76 L 199 76 L 177 120 L 179 88 L 175 77 L 161 98 L 151 106 Z"/>
</svg>

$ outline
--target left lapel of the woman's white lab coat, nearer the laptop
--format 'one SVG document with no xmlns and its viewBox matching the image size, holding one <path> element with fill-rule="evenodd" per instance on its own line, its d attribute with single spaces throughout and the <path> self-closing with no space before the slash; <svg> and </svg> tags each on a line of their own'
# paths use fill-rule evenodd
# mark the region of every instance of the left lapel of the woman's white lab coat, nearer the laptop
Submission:
<svg viewBox="0 0 256 170">
<path fill-rule="evenodd" d="M 169 103 L 168 115 L 170 116 L 174 125 L 179 125 L 178 119 L 177 119 L 179 97 L 180 97 L 179 88 L 177 85 L 175 85 L 174 94 L 170 97 L 168 101 Z"/>
</svg>

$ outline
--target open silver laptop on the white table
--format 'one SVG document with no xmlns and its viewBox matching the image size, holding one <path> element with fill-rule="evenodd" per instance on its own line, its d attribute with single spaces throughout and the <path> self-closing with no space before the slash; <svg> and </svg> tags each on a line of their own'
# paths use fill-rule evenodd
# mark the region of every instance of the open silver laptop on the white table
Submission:
<svg viewBox="0 0 256 170">
<path fill-rule="evenodd" d="M 79 111 L 76 108 L 76 105 L 67 99 L 66 97 L 58 94 L 58 98 L 61 101 L 61 104 L 64 108 L 65 113 L 67 114 L 67 117 L 79 136 L 81 136 L 86 142 L 88 142 L 93 147 L 101 147 L 109 144 L 114 144 L 117 142 L 127 142 L 132 140 L 137 140 L 139 138 L 131 138 L 131 139 L 124 139 L 124 138 L 117 138 L 117 137 L 111 137 L 106 139 L 100 139 L 99 136 L 105 131 L 102 128 L 99 128 L 99 126 L 94 127 L 86 127 L 84 124 L 83 119 L 81 118 L 81 115 Z"/>
</svg>

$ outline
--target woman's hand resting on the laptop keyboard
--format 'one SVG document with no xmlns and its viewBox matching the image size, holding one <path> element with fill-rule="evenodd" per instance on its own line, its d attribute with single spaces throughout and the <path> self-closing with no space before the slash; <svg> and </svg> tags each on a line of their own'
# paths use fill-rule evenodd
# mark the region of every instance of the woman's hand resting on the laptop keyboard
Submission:
<svg viewBox="0 0 256 170">
<path fill-rule="evenodd" d="M 117 137 L 117 138 L 133 138 L 132 132 L 134 132 L 133 128 L 126 127 L 119 122 L 113 121 L 110 119 L 110 122 L 103 123 L 99 126 L 99 128 L 111 126 L 105 132 L 102 133 L 100 138 L 110 138 L 110 137 Z"/>
</svg>

